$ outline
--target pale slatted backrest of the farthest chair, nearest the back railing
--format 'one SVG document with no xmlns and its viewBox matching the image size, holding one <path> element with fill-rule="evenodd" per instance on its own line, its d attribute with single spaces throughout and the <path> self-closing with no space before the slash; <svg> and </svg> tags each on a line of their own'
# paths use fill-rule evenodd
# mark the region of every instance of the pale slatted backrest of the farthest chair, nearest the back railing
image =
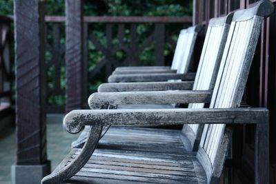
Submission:
<svg viewBox="0 0 276 184">
<path fill-rule="evenodd" d="M 197 34 L 201 32 L 201 25 L 195 25 L 186 30 L 181 30 L 177 47 L 175 48 L 175 55 L 172 60 L 172 70 L 177 70 L 177 73 L 184 74 L 188 72 L 190 62 L 197 41 Z"/>
</svg>

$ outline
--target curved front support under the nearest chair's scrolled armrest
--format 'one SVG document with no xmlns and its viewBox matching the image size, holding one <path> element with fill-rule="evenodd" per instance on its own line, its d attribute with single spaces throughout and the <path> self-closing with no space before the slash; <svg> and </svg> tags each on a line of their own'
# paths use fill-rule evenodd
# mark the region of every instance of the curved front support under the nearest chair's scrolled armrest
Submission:
<svg viewBox="0 0 276 184">
<path fill-rule="evenodd" d="M 81 152 L 78 154 L 78 156 L 71 163 L 66 165 L 68 160 L 72 158 L 71 156 L 77 151 L 76 148 L 73 148 L 70 154 L 61 162 L 57 169 L 52 172 L 52 174 L 44 177 L 41 183 L 62 183 L 79 172 L 81 167 L 87 163 L 87 161 L 90 159 L 90 156 L 94 152 L 101 136 L 101 129 L 102 126 L 99 124 L 92 125 L 90 127 L 86 143 L 83 145 L 83 148 L 81 149 Z"/>
</svg>

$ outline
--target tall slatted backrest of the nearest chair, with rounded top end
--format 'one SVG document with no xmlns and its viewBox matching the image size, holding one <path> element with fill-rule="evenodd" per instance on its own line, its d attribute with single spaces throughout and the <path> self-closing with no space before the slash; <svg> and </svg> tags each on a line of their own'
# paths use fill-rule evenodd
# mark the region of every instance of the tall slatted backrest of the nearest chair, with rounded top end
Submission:
<svg viewBox="0 0 276 184">
<path fill-rule="evenodd" d="M 259 1 L 257 6 L 238 10 L 233 16 L 224 54 L 219 66 L 210 108 L 237 108 L 248 78 L 250 65 L 264 17 L 273 4 Z M 204 125 L 197 158 L 206 171 L 208 183 L 217 181 L 223 169 L 229 134 L 225 124 Z"/>
</svg>

